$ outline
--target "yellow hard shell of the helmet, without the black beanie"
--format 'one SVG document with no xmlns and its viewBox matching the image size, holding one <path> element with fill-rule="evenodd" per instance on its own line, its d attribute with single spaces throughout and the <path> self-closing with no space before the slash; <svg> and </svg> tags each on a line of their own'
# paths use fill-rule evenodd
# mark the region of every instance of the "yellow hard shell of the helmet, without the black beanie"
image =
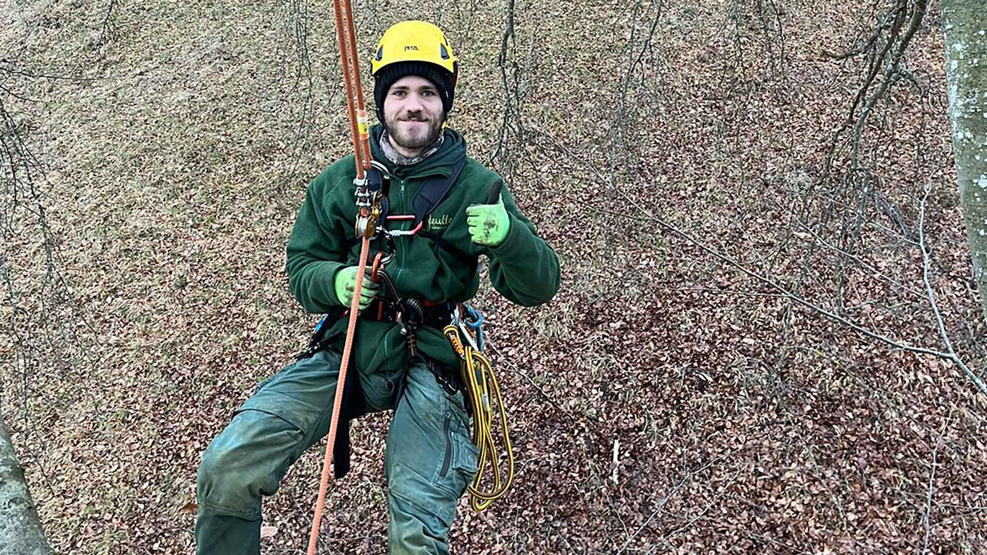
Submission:
<svg viewBox="0 0 987 555">
<path fill-rule="evenodd" d="M 377 76 L 388 65 L 402 61 L 434 63 L 456 74 L 452 46 L 445 40 L 442 30 L 428 22 L 403 21 L 388 28 L 377 42 L 370 60 L 370 75 Z"/>
</svg>

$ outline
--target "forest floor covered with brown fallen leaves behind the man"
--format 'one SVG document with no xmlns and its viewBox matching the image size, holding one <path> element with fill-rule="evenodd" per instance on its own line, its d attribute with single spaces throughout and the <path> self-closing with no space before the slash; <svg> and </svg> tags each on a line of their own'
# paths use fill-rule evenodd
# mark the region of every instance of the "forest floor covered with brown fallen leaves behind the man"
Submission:
<svg viewBox="0 0 987 555">
<path fill-rule="evenodd" d="M 517 475 L 485 513 L 462 502 L 453 553 L 987 552 L 985 397 L 902 348 L 945 350 L 924 240 L 944 330 L 985 360 L 938 5 L 856 169 L 868 57 L 825 54 L 865 43 L 869 3 L 354 10 L 367 59 L 395 21 L 443 27 L 450 125 L 563 264 L 546 305 L 476 299 Z M 200 453 L 304 346 L 284 245 L 349 145 L 335 40 L 304 0 L 0 10 L 0 102 L 44 168 L 34 204 L 3 193 L 0 408 L 59 553 L 190 553 Z M 321 553 L 386 553 L 389 418 L 354 424 Z M 321 462 L 266 501 L 266 555 L 305 545 Z"/>
</svg>

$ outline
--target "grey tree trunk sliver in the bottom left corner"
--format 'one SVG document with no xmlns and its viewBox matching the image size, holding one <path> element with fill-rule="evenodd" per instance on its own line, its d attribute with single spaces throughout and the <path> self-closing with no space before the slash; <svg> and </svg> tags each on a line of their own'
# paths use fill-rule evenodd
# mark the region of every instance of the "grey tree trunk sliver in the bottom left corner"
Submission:
<svg viewBox="0 0 987 555">
<path fill-rule="evenodd" d="M 14 452 L 7 427 L 0 421 L 0 553 L 51 555 L 24 469 Z"/>
</svg>

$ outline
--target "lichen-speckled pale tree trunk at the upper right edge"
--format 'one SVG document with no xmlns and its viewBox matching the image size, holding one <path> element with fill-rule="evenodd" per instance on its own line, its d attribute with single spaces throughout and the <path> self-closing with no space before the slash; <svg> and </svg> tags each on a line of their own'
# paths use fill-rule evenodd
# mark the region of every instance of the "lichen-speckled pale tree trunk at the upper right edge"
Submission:
<svg viewBox="0 0 987 555">
<path fill-rule="evenodd" d="M 956 185 L 987 320 L 987 10 L 983 0 L 941 5 Z"/>
</svg>

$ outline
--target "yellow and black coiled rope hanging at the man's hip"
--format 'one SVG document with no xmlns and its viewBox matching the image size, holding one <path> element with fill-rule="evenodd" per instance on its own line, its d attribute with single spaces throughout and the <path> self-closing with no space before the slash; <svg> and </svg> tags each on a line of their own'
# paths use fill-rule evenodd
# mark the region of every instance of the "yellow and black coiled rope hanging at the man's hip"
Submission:
<svg viewBox="0 0 987 555">
<path fill-rule="evenodd" d="M 463 394 L 466 395 L 470 406 L 473 407 L 473 443 L 480 450 L 477 457 L 477 474 L 473 483 L 467 487 L 470 493 L 470 507 L 480 512 L 490 507 L 490 504 L 503 497 L 514 479 L 514 453 L 510 447 L 510 436 L 507 434 L 507 413 L 504 412 L 500 387 L 493 375 L 491 362 L 483 353 L 469 345 L 464 346 L 459 335 L 459 328 L 446 326 L 442 333 L 452 344 L 460 358 L 460 370 L 465 385 Z M 493 402 L 493 404 L 492 404 Z M 493 411 L 496 410 L 500 420 L 500 436 L 503 438 L 506 452 L 507 472 L 501 475 L 496 445 L 493 442 Z M 490 471 L 488 471 L 490 467 Z M 490 473 L 493 484 L 484 489 L 482 482 Z"/>
</svg>

